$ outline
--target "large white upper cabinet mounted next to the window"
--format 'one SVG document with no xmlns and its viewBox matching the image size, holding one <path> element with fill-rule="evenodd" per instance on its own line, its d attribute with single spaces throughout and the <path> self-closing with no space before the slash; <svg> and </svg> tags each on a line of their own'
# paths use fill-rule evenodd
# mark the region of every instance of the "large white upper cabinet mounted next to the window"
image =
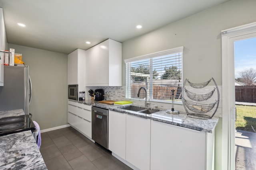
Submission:
<svg viewBox="0 0 256 170">
<path fill-rule="evenodd" d="M 122 86 L 122 43 L 107 39 L 86 50 L 86 86 Z"/>
</svg>

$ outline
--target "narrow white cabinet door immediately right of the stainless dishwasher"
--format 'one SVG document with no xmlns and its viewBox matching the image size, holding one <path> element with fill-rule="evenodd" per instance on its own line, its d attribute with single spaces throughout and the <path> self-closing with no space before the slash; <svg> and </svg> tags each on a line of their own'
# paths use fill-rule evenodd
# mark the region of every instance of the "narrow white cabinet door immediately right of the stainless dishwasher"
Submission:
<svg viewBox="0 0 256 170">
<path fill-rule="evenodd" d="M 109 111 L 108 149 L 125 160 L 126 155 L 126 114 Z"/>
</svg>

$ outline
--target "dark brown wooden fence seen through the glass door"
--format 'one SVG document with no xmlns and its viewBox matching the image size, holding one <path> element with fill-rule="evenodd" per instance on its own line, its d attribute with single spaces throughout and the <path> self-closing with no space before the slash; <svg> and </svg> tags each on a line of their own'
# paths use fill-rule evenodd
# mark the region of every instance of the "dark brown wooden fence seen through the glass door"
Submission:
<svg viewBox="0 0 256 170">
<path fill-rule="evenodd" d="M 236 86 L 236 102 L 256 103 L 256 86 Z"/>
</svg>

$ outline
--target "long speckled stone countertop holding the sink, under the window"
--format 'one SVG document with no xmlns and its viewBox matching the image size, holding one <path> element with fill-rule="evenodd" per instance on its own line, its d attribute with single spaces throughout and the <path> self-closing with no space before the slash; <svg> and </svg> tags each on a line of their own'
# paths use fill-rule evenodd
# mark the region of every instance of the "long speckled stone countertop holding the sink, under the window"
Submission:
<svg viewBox="0 0 256 170">
<path fill-rule="evenodd" d="M 207 133 L 212 133 L 212 131 L 215 129 L 219 120 L 218 117 L 212 117 L 212 119 L 196 119 L 196 118 L 188 117 L 187 114 L 184 112 L 183 113 L 180 112 L 180 114 L 170 114 L 170 113 L 166 113 L 166 110 L 160 110 L 156 113 L 146 114 L 146 113 L 140 113 L 136 111 L 122 109 L 122 107 L 124 106 L 103 104 L 94 100 L 86 100 L 86 101 L 78 101 L 78 102 L 91 105 L 91 106 L 101 107 L 104 109 L 118 111 L 121 113 L 136 115 L 139 117 L 144 117 L 147 119 L 152 119 L 155 121 L 160 121 L 163 123 L 185 127 L 185 128 L 189 128 L 197 131 L 204 131 Z M 138 106 L 138 107 L 141 107 L 141 106 Z"/>
</svg>

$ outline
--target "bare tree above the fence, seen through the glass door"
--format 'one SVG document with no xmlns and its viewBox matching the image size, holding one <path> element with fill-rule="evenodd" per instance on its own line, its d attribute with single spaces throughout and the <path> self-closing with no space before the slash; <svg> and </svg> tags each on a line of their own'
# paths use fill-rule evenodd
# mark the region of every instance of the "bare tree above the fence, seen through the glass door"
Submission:
<svg viewBox="0 0 256 170">
<path fill-rule="evenodd" d="M 243 82 L 245 86 L 252 86 L 256 83 L 256 70 L 253 68 L 238 72 L 238 74 L 240 77 L 237 79 L 239 79 L 240 82 Z"/>
</svg>

